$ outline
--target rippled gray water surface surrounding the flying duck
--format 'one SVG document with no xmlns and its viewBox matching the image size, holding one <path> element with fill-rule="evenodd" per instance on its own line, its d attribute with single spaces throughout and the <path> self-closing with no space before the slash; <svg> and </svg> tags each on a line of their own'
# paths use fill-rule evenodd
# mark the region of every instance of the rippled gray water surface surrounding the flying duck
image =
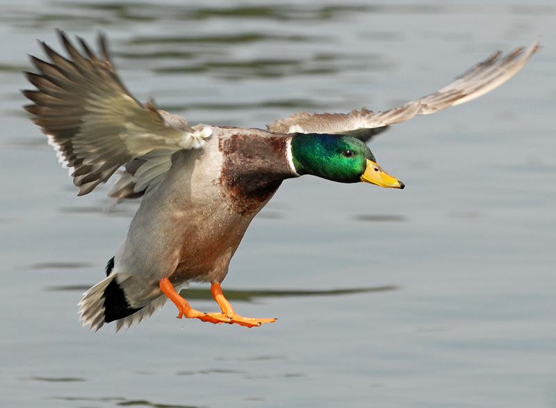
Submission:
<svg viewBox="0 0 556 408">
<path fill-rule="evenodd" d="M 556 6 L 483 1 L 12 1 L 0 15 L 0 402 L 5 407 L 556 404 Z M 543 35 L 477 101 L 371 144 L 407 188 L 286 181 L 224 281 L 255 329 L 163 311 L 81 327 L 136 209 L 76 197 L 19 90 L 54 28 L 111 40 L 140 100 L 191 123 L 386 109 Z M 59 47 L 58 47 L 59 48 Z M 184 292 L 215 310 L 207 286 Z"/>
</svg>

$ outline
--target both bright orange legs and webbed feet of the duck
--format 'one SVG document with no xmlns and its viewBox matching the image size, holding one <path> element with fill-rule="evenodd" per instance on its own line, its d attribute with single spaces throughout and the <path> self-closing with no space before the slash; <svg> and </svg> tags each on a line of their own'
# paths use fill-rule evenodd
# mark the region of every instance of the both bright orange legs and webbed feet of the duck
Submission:
<svg viewBox="0 0 556 408">
<path fill-rule="evenodd" d="M 232 325 L 234 323 L 245 326 L 245 327 L 254 327 L 260 326 L 264 323 L 272 323 L 275 322 L 276 319 L 268 319 L 268 318 L 245 318 L 243 316 L 238 316 L 234 309 L 232 309 L 231 305 L 227 301 L 227 299 L 222 295 L 222 288 L 220 288 L 220 284 L 214 283 L 211 286 L 211 292 L 213 294 L 214 300 L 218 302 L 220 309 L 222 309 L 222 313 L 203 313 L 202 311 L 198 311 L 190 307 L 189 303 L 183 299 L 176 292 L 174 286 L 170 283 L 170 280 L 164 278 L 160 281 L 161 290 L 167 297 L 174 302 L 179 310 L 178 318 L 197 318 L 204 322 L 208 323 L 215 323 L 220 325 L 220 323 L 228 323 Z"/>
</svg>

